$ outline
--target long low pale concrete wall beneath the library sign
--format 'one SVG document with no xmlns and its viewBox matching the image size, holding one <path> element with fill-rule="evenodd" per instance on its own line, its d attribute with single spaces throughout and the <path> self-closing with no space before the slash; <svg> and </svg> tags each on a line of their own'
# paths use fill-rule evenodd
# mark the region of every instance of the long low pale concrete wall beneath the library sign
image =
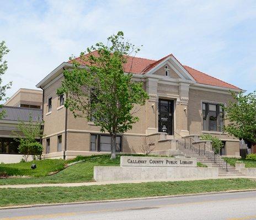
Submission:
<svg viewBox="0 0 256 220">
<path fill-rule="evenodd" d="M 218 168 L 204 167 L 94 167 L 97 182 L 218 177 Z"/>
</svg>

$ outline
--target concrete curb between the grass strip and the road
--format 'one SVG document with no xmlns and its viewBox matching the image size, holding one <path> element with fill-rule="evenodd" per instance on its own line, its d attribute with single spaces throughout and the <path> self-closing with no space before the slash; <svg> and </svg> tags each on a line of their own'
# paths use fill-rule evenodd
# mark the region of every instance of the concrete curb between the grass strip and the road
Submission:
<svg viewBox="0 0 256 220">
<path fill-rule="evenodd" d="M 63 203 L 54 203 L 54 204 L 34 204 L 34 205 L 24 205 L 24 206 L 7 206 L 7 207 L 0 207 L 0 210 L 9 210 L 9 209 L 17 209 L 17 208 L 47 207 L 47 206 L 95 204 L 95 203 L 106 203 L 106 202 L 123 202 L 123 201 L 136 201 L 136 200 L 149 200 L 149 199 L 168 199 L 168 198 L 174 198 L 174 197 L 216 195 L 216 194 L 225 194 L 225 193 L 243 193 L 243 192 L 250 192 L 250 191 L 256 191 L 256 189 L 228 190 L 228 191 L 220 191 L 220 192 L 179 194 L 179 195 L 169 195 L 169 196 L 138 197 L 138 198 L 116 199 L 116 200 L 98 200 L 98 201 L 94 200 L 94 201 L 84 201 L 84 202 L 63 202 Z"/>
</svg>

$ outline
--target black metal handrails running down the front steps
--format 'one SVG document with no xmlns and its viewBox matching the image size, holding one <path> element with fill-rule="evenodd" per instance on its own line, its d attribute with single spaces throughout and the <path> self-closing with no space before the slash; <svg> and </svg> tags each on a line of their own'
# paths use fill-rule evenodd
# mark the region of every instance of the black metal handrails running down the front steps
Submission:
<svg viewBox="0 0 256 220">
<path fill-rule="evenodd" d="M 227 162 L 223 160 L 223 158 L 216 152 L 214 152 L 209 146 L 207 146 L 203 142 L 196 142 L 193 138 L 187 137 L 184 138 L 182 135 L 178 134 L 174 131 L 174 138 L 178 139 L 178 143 L 182 145 L 182 147 L 189 148 L 193 150 L 195 153 L 198 153 L 198 155 L 204 155 L 207 158 L 209 158 L 212 162 L 218 164 L 218 166 L 222 167 L 226 171 L 228 171 L 227 168 Z"/>
</svg>

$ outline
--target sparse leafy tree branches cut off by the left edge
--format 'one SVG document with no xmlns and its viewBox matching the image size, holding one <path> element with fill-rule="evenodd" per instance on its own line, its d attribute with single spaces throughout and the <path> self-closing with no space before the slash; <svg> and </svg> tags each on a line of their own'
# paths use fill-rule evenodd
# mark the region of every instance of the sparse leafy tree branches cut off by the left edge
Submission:
<svg viewBox="0 0 256 220">
<path fill-rule="evenodd" d="M 3 60 L 4 55 L 6 55 L 9 52 L 7 46 L 6 46 L 6 42 L 1 41 L 0 42 L 0 102 L 1 101 L 5 101 L 6 100 L 6 90 L 10 89 L 10 86 L 12 86 L 12 82 L 9 82 L 6 85 L 2 85 L 3 80 L 2 80 L 2 76 L 4 75 L 4 73 L 6 73 L 7 70 L 7 61 Z M 0 105 L 0 108 L 2 108 L 3 105 Z M 1 111 L 0 112 L 0 119 L 4 118 L 5 115 L 5 111 Z"/>
</svg>

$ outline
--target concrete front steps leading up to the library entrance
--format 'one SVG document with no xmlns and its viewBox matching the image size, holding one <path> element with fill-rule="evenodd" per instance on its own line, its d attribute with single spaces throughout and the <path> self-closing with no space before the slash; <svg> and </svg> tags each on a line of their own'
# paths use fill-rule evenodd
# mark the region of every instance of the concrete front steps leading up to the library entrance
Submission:
<svg viewBox="0 0 256 220">
<path fill-rule="evenodd" d="M 217 167 L 219 177 L 233 177 L 233 176 L 243 176 L 242 173 L 238 172 L 233 166 L 230 164 L 227 165 L 228 171 L 226 169 L 220 167 L 217 163 L 210 160 L 208 157 L 204 155 L 198 155 L 198 153 L 194 152 L 193 149 L 184 148 L 182 145 L 178 145 L 178 150 L 182 152 L 182 155 L 185 157 L 197 158 L 198 162 L 205 164 L 207 167 Z"/>
</svg>

